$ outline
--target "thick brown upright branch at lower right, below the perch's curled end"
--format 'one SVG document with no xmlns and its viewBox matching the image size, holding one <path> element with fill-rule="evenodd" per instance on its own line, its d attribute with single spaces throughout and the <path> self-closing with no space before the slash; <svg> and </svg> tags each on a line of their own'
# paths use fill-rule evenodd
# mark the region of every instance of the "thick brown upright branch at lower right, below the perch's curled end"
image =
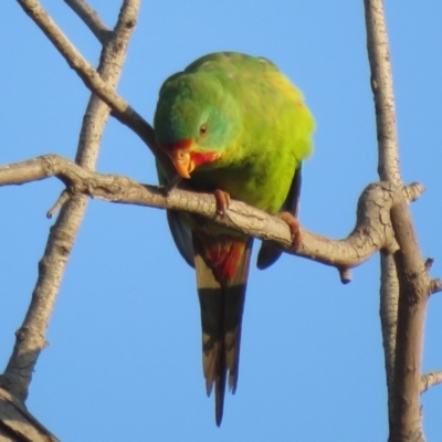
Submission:
<svg viewBox="0 0 442 442">
<path fill-rule="evenodd" d="M 399 309 L 389 440 L 411 441 L 409 438 L 413 434 L 413 438 L 418 435 L 413 441 L 424 441 L 420 391 L 430 278 L 404 199 L 391 209 L 391 220 L 399 244 L 394 253 L 399 277 Z"/>
</svg>

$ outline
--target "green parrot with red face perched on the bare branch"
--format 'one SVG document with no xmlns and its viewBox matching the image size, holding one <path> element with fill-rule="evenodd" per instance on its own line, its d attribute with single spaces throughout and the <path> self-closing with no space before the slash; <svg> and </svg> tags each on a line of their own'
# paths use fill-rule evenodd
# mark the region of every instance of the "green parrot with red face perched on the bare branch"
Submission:
<svg viewBox="0 0 442 442">
<path fill-rule="evenodd" d="M 275 64 L 238 52 L 198 59 L 162 84 L 154 127 L 187 188 L 213 192 L 221 214 L 231 197 L 272 214 L 284 212 L 298 235 L 301 165 L 312 151 L 314 120 L 302 93 Z M 197 272 L 203 373 L 208 396 L 214 385 L 219 427 L 227 381 L 236 390 L 253 239 L 183 212 L 168 211 L 168 221 Z M 257 266 L 280 255 L 264 242 Z"/>
</svg>

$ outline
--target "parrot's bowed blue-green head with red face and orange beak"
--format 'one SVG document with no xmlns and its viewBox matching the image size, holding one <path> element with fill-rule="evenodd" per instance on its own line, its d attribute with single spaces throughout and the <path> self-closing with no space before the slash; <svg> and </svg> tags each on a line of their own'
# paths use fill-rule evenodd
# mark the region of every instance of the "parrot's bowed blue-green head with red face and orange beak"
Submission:
<svg viewBox="0 0 442 442">
<path fill-rule="evenodd" d="M 207 73 L 173 75 L 159 92 L 154 117 L 158 145 L 182 178 L 199 167 L 217 167 L 241 128 L 235 101 Z"/>
</svg>

